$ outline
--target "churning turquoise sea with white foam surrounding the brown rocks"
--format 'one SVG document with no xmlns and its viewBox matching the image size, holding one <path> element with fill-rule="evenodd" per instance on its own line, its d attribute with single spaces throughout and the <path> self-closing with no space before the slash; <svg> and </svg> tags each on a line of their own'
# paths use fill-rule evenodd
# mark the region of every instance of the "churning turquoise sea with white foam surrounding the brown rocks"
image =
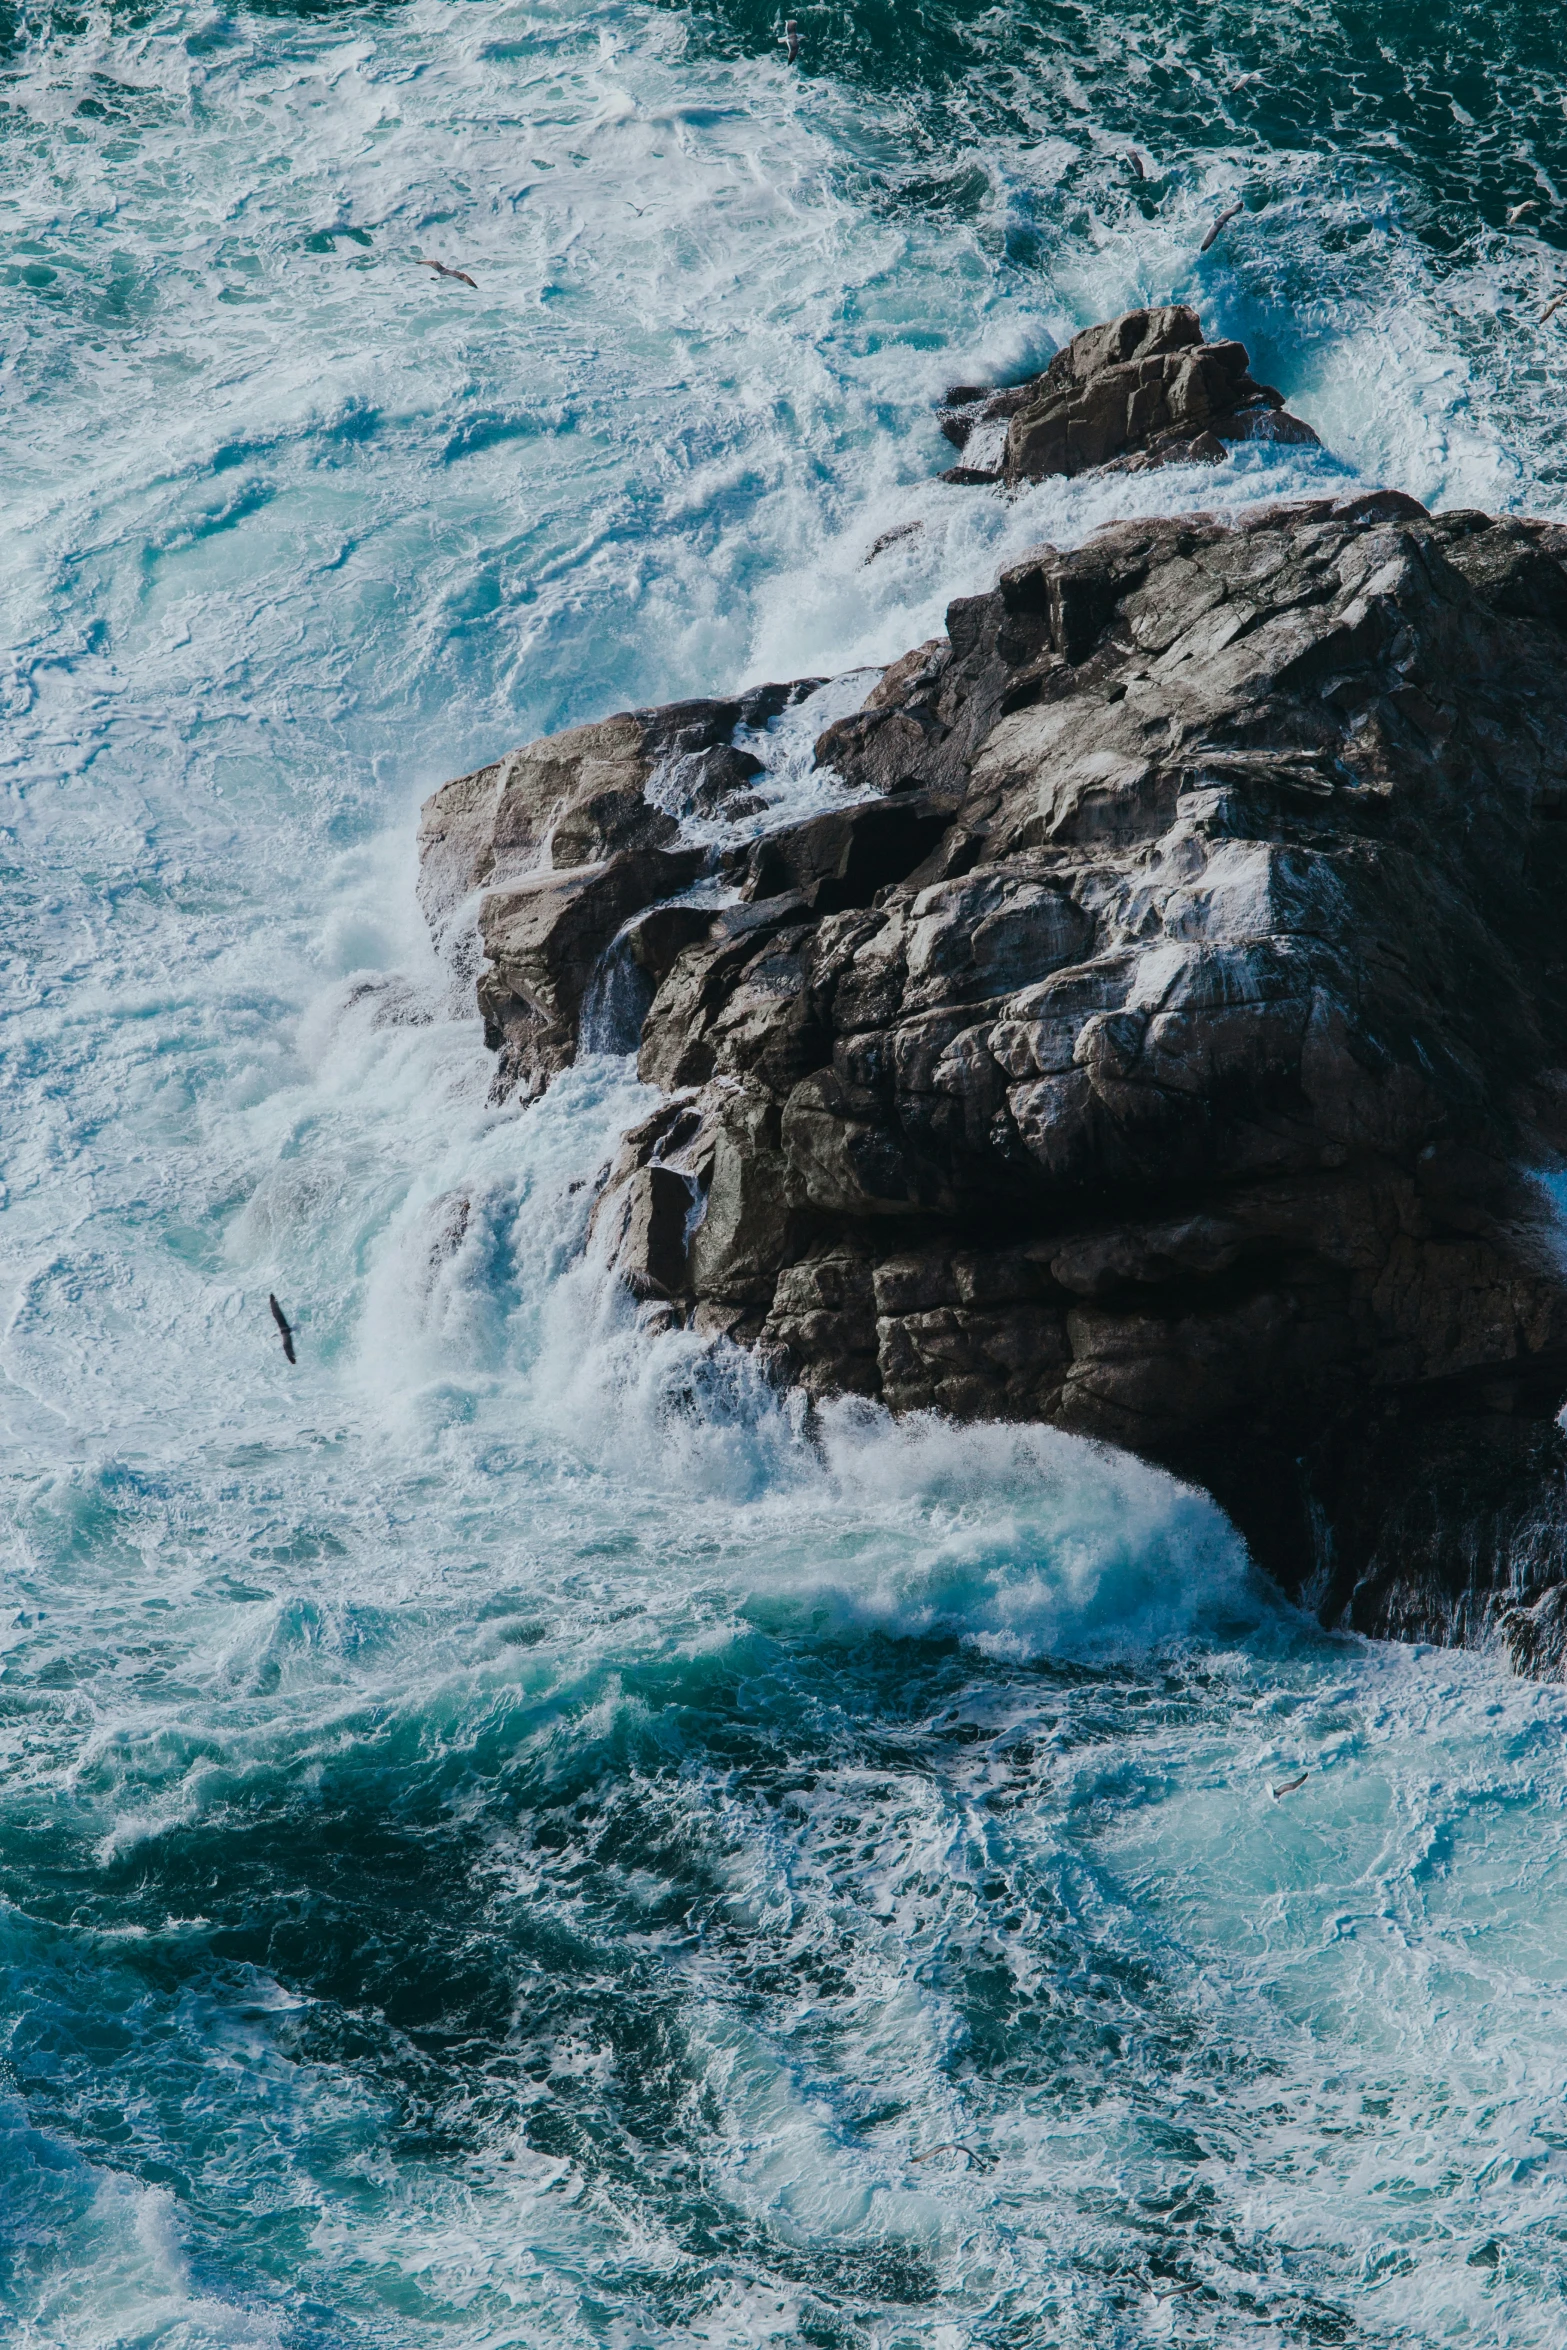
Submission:
<svg viewBox="0 0 1567 2350">
<path fill-rule="evenodd" d="M 1565 512 L 1567 35 L 799 24 L 0 7 L 26 2350 L 1567 2341 L 1567 1692 L 639 1330 L 632 1065 L 493 1104 L 413 905 L 446 776 L 874 667 L 1034 538 Z M 1165 296 L 1332 454 L 935 482 L 944 383 Z"/>
</svg>

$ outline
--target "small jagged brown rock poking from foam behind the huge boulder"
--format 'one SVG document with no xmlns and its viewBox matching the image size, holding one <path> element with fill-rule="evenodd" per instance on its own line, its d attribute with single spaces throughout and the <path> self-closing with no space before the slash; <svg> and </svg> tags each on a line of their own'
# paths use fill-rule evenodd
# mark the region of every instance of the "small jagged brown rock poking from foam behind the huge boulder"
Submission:
<svg viewBox="0 0 1567 2350">
<path fill-rule="evenodd" d="M 1222 465 L 1231 442 L 1311 442 L 1283 392 L 1252 383 L 1243 343 L 1205 343 L 1196 310 L 1128 310 L 1088 327 L 1043 376 L 1001 392 L 947 392 L 949 482 L 1041 482 L 1050 472 Z"/>
</svg>

